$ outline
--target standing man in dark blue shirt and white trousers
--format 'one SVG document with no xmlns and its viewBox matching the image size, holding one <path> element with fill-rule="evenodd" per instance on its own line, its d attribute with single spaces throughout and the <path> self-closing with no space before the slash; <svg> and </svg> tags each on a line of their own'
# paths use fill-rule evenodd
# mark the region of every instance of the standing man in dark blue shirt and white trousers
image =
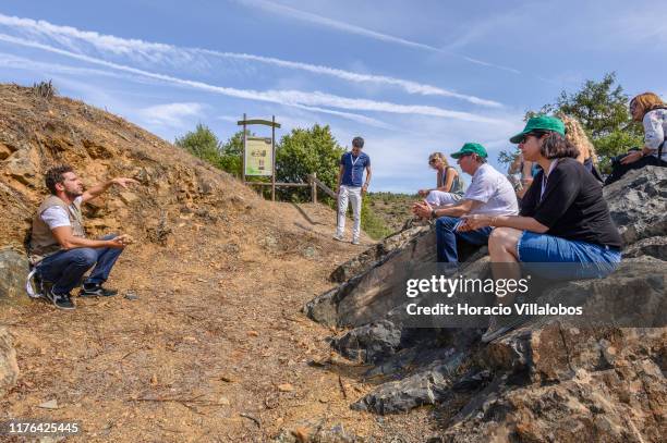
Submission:
<svg viewBox="0 0 667 443">
<path fill-rule="evenodd" d="M 333 239 L 343 241 L 345 230 L 345 212 L 348 212 L 348 199 L 352 204 L 352 214 L 354 225 L 352 226 L 352 244 L 359 245 L 361 233 L 361 199 L 363 194 L 368 190 L 371 183 L 371 157 L 362 152 L 364 139 L 354 137 L 352 139 L 352 151 L 345 152 L 340 158 L 340 170 L 338 171 L 338 184 L 336 194 L 338 195 L 338 225 Z M 364 182 L 364 170 L 366 170 L 366 181 Z M 362 184 L 363 183 L 363 184 Z"/>
</svg>

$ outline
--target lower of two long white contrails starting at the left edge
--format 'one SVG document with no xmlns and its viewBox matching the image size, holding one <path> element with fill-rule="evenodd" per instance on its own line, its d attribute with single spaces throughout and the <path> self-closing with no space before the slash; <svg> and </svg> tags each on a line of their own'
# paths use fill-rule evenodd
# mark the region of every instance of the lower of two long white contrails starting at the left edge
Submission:
<svg viewBox="0 0 667 443">
<path fill-rule="evenodd" d="M 169 83 L 172 85 L 184 86 L 189 88 L 195 88 L 199 90 L 206 90 L 215 94 L 220 94 L 228 97 L 248 99 L 248 100 L 259 100 L 259 101 L 268 101 L 272 103 L 280 103 L 287 106 L 296 106 L 296 107 L 330 107 L 330 108 L 339 108 L 345 110 L 357 110 L 357 111 L 378 111 L 378 112 L 389 112 L 389 113 L 398 113 L 398 114 L 422 114 L 422 115 L 430 115 L 430 116 L 439 116 L 446 119 L 454 119 L 470 122 L 480 122 L 480 123 L 489 123 L 489 124 L 501 124 L 501 121 L 497 119 L 487 118 L 484 115 L 478 115 L 470 112 L 460 112 L 452 111 L 448 109 L 442 109 L 438 107 L 432 106 L 421 106 L 421 104 L 399 104 L 387 101 L 375 101 L 368 99 L 359 99 L 359 98 L 348 98 L 335 96 L 331 94 L 314 91 L 314 93 L 305 93 L 300 90 L 266 90 L 258 91 L 253 89 L 238 89 L 238 88 L 229 88 L 222 86 L 210 85 L 204 82 L 191 81 L 185 78 L 179 78 L 171 75 L 159 74 L 155 72 L 149 72 L 145 70 L 140 70 L 136 67 L 109 62 L 106 60 L 101 60 L 98 58 L 94 58 L 90 56 L 85 56 L 81 53 L 75 53 L 72 51 L 68 51 L 60 48 L 54 48 L 49 45 L 44 45 L 36 41 L 26 40 L 24 38 L 17 38 L 8 36 L 4 34 L 0 34 L 0 40 L 12 42 L 15 45 L 32 47 L 41 49 L 45 51 L 49 51 L 52 53 L 58 53 L 61 56 L 65 56 L 69 58 L 73 58 L 76 60 L 85 61 L 88 63 L 102 65 L 106 67 L 110 67 L 113 70 L 145 76 L 148 78 L 153 78 L 156 81 L 161 81 L 165 83 Z M 315 108 L 313 108 L 315 109 Z M 342 114 L 342 113 L 341 113 Z"/>
</svg>

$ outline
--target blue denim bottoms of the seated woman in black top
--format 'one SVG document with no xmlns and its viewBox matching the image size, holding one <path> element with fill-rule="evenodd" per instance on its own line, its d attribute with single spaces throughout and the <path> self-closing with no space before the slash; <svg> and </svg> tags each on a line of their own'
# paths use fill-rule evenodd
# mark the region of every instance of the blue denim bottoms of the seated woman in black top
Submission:
<svg viewBox="0 0 667 443">
<path fill-rule="evenodd" d="M 609 246 L 570 241 L 547 234 L 523 231 L 517 243 L 519 261 L 534 263 L 570 263 L 543 267 L 549 278 L 603 278 L 620 263 L 621 253 Z M 543 273 L 543 272 L 539 272 Z"/>
</svg>

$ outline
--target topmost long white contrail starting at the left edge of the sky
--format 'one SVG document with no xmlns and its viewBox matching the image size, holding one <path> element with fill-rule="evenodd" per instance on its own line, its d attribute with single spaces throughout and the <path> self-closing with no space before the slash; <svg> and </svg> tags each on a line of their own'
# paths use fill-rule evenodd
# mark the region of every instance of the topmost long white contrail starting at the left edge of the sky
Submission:
<svg viewBox="0 0 667 443">
<path fill-rule="evenodd" d="M 203 48 L 180 48 L 160 42 L 149 42 L 140 39 L 128 39 L 111 35 L 102 35 L 96 32 L 81 30 L 71 26 L 59 26 L 45 21 L 20 19 L 3 14 L 0 14 L 0 25 L 8 26 L 13 29 L 21 29 L 28 37 L 31 37 L 31 39 L 37 39 L 37 41 L 40 41 L 39 38 L 44 38 L 47 39 L 46 42 L 57 42 L 65 49 L 77 53 L 85 53 L 86 48 L 82 47 L 82 44 L 85 42 L 90 45 L 97 51 L 126 57 L 133 61 L 146 62 L 153 65 L 167 64 L 192 66 L 194 64 L 203 67 L 209 64 L 208 60 L 206 59 L 207 57 L 225 60 L 243 60 L 269 64 L 278 67 L 300 70 L 318 75 L 327 75 L 352 83 L 371 83 L 399 87 L 409 94 L 451 97 L 465 100 L 474 104 L 492 108 L 499 108 L 502 106 L 494 100 L 460 94 L 438 86 L 422 84 L 409 79 L 385 75 L 362 74 L 330 66 L 294 62 L 271 57 L 222 52 Z"/>
</svg>

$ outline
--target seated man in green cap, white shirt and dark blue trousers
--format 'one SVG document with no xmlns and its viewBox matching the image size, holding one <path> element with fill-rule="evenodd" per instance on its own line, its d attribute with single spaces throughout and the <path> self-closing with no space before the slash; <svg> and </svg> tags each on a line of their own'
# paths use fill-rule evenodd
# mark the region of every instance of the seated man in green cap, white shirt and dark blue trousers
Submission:
<svg viewBox="0 0 667 443">
<path fill-rule="evenodd" d="M 486 245 L 492 227 L 460 231 L 465 223 L 462 216 L 483 213 L 489 216 L 516 216 L 519 211 L 512 185 L 505 175 L 486 163 L 486 149 L 476 143 L 466 143 L 451 155 L 461 170 L 472 175 L 472 183 L 463 199 L 433 208 L 427 201 L 413 206 L 413 212 L 424 219 L 437 219 L 436 237 L 439 262 L 459 261 L 457 242 L 463 239 L 473 245 Z"/>
</svg>

